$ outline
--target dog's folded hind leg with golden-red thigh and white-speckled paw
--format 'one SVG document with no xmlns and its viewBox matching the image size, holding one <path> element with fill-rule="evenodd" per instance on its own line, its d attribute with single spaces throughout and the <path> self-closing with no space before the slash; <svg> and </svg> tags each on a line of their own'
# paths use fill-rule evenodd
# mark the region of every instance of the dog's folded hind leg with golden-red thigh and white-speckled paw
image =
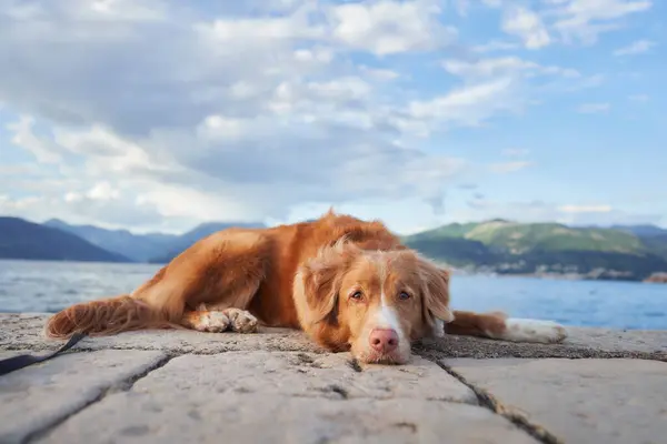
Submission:
<svg viewBox="0 0 667 444">
<path fill-rule="evenodd" d="M 258 231 L 216 233 L 177 256 L 133 296 L 188 329 L 256 331 L 257 319 L 246 309 L 265 279 L 268 246 Z"/>
</svg>

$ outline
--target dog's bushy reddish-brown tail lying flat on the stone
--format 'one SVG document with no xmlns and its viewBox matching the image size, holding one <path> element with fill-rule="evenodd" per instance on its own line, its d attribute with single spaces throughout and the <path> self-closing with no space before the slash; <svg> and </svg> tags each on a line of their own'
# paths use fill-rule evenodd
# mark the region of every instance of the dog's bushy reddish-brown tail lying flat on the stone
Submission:
<svg viewBox="0 0 667 444">
<path fill-rule="evenodd" d="M 49 319 L 44 334 L 68 339 L 74 333 L 106 336 L 131 330 L 182 329 L 143 301 L 123 294 L 74 304 Z"/>
</svg>

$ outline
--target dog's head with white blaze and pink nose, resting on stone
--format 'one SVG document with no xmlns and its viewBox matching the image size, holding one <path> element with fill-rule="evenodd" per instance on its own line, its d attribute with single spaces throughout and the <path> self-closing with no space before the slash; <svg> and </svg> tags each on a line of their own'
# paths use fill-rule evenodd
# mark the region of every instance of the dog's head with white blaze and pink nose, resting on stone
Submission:
<svg viewBox="0 0 667 444">
<path fill-rule="evenodd" d="M 322 249 L 299 269 L 295 301 L 311 337 L 365 363 L 404 364 L 412 341 L 454 320 L 449 273 L 411 250 Z"/>
</svg>

